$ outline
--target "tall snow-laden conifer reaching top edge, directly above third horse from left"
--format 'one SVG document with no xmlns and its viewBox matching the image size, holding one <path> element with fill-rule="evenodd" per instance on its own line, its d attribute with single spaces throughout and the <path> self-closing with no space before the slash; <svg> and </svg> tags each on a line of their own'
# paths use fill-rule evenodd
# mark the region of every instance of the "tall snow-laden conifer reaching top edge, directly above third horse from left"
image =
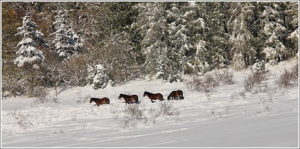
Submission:
<svg viewBox="0 0 300 149">
<path fill-rule="evenodd" d="M 137 23 L 142 30 L 142 51 L 145 55 L 145 66 L 150 78 L 158 74 L 167 80 L 170 73 L 169 51 L 167 44 L 167 19 L 165 16 L 165 5 L 167 2 L 143 2 L 136 8 L 140 12 Z"/>
</svg>

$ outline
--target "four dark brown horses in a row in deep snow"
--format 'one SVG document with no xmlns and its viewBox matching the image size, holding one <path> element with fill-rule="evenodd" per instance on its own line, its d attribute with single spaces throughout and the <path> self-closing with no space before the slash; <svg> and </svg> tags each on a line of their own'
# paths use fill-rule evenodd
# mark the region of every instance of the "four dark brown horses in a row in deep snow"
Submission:
<svg viewBox="0 0 300 149">
<path fill-rule="evenodd" d="M 149 97 L 149 99 L 151 99 L 152 103 L 153 103 L 153 100 L 157 100 L 157 99 L 160 100 L 160 101 L 164 100 L 164 98 L 163 98 L 163 96 L 162 96 L 161 93 L 151 93 L 151 92 L 145 91 L 143 97 L 145 97 L 146 95 Z M 174 91 L 172 91 L 169 94 L 169 96 L 167 97 L 167 99 L 171 100 L 171 98 L 172 98 L 172 100 L 174 100 L 176 97 L 179 97 L 180 100 L 184 99 L 182 90 L 174 90 Z M 135 95 L 135 94 L 133 94 L 133 95 L 126 95 L 126 94 L 122 94 L 121 93 L 119 95 L 118 99 L 121 99 L 121 98 L 124 98 L 126 105 L 127 105 L 127 103 L 129 104 L 129 101 L 130 102 L 134 101 L 135 103 L 139 103 L 139 97 L 137 95 Z M 97 105 L 97 106 L 102 105 L 102 104 L 109 104 L 110 103 L 110 101 L 109 101 L 109 99 L 107 97 L 103 97 L 103 98 L 90 98 L 90 103 L 92 103 L 93 101 L 96 103 L 95 105 Z"/>
</svg>

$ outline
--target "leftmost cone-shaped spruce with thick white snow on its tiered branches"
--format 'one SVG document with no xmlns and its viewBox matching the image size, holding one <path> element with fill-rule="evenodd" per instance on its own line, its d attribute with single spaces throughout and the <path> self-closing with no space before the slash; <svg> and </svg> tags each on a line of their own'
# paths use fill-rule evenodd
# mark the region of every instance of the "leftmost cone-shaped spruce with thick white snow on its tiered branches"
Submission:
<svg viewBox="0 0 300 149">
<path fill-rule="evenodd" d="M 40 42 L 46 46 L 48 46 L 48 44 L 44 39 L 44 34 L 36 30 L 37 27 L 38 26 L 31 20 L 30 10 L 27 10 L 23 18 L 23 26 L 17 29 L 19 32 L 16 34 L 23 36 L 22 41 L 17 45 L 19 50 L 16 52 L 17 58 L 14 60 L 14 63 L 17 64 L 18 67 L 23 66 L 25 63 L 40 63 L 45 60 L 43 53 L 37 48 L 36 42 Z"/>
</svg>

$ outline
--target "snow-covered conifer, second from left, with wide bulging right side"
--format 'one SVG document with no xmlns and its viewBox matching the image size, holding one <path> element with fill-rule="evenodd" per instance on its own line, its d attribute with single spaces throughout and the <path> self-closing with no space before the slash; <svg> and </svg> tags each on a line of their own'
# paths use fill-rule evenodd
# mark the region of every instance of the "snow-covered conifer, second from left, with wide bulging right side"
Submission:
<svg viewBox="0 0 300 149">
<path fill-rule="evenodd" d="M 60 60 L 68 61 L 70 57 L 82 51 L 83 44 L 80 37 L 74 32 L 73 25 L 67 22 L 67 11 L 56 11 L 53 25 L 57 30 L 50 35 L 54 35 L 53 44 L 55 44 L 55 52 Z"/>
</svg>

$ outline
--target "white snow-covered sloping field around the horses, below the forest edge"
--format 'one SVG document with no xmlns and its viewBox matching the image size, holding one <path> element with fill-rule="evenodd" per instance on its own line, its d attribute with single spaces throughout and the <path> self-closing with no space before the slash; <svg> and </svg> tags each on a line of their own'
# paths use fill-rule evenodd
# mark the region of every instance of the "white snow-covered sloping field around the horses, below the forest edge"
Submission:
<svg viewBox="0 0 300 149">
<path fill-rule="evenodd" d="M 269 90 L 254 89 L 244 96 L 242 81 L 249 70 L 234 72 L 236 83 L 220 84 L 210 100 L 184 83 L 155 79 L 98 90 L 61 88 L 57 103 L 6 97 L 1 100 L 1 148 L 299 148 L 299 86 L 282 93 L 274 82 L 292 64 L 267 66 Z M 164 99 L 181 89 L 184 99 L 151 103 L 143 97 L 145 89 Z M 52 97 L 54 90 L 49 93 Z M 127 126 L 125 108 L 135 104 L 125 105 L 120 93 L 138 95 L 144 112 Z M 93 106 L 89 97 L 108 97 L 110 104 Z M 164 102 L 172 114 L 151 119 L 150 110 L 158 112 Z"/>
</svg>

